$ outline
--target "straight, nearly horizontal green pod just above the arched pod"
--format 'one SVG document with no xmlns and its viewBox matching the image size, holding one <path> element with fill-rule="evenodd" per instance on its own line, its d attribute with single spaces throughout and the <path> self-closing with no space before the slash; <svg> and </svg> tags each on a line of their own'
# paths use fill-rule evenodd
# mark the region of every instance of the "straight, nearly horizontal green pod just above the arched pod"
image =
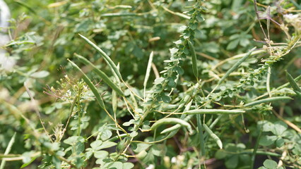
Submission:
<svg viewBox="0 0 301 169">
<path fill-rule="evenodd" d="M 184 112 L 184 114 L 237 114 L 237 113 L 245 113 L 245 111 L 223 110 L 223 109 L 196 109 L 196 110 Z"/>
</svg>

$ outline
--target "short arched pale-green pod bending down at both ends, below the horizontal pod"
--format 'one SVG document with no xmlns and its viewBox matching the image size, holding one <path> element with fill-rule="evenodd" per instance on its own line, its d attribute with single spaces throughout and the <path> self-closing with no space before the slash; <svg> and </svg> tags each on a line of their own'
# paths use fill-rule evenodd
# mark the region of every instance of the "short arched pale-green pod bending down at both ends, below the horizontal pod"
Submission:
<svg viewBox="0 0 301 169">
<path fill-rule="evenodd" d="M 156 121 L 155 123 L 153 123 L 153 125 L 151 126 L 151 130 L 155 130 L 156 128 L 158 128 L 160 125 L 170 125 L 170 124 L 179 124 L 183 127 L 187 127 L 187 130 L 190 132 L 190 134 L 192 134 L 192 128 L 191 125 L 189 123 L 187 123 L 184 120 L 181 120 L 179 118 L 163 118 L 160 119 L 158 121 Z"/>
</svg>

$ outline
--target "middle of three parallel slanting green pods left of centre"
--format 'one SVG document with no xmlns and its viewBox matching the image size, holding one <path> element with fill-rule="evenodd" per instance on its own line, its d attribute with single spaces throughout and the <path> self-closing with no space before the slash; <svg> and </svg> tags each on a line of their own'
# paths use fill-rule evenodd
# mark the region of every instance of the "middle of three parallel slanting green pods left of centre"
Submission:
<svg viewBox="0 0 301 169">
<path fill-rule="evenodd" d="M 81 63 L 84 63 L 85 65 L 90 65 L 93 68 L 93 71 L 105 82 L 107 83 L 108 86 L 110 86 L 115 92 L 117 92 L 117 94 L 119 94 L 120 96 L 124 96 L 124 93 L 122 92 L 122 90 L 117 86 L 117 84 L 115 84 L 114 82 L 112 82 L 112 80 L 110 80 L 110 77 L 107 77 L 107 75 L 102 72 L 102 70 L 99 70 L 98 68 L 96 68 L 95 65 L 93 65 L 93 63 L 91 63 L 90 61 L 88 61 L 88 59 L 86 59 L 85 57 L 78 55 L 78 54 L 74 54 L 74 56 L 76 56 L 78 58 L 79 61 L 81 61 Z"/>
</svg>

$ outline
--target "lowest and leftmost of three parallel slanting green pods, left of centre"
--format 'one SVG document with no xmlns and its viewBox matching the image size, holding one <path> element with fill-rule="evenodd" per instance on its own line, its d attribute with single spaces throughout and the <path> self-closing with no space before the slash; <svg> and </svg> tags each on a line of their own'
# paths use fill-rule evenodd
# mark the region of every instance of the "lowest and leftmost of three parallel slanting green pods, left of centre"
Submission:
<svg viewBox="0 0 301 169">
<path fill-rule="evenodd" d="M 88 87 L 90 87 L 91 91 L 93 92 L 94 96 L 96 97 L 96 100 L 98 101 L 98 104 L 100 105 L 101 108 L 103 108 L 104 110 L 106 110 L 105 109 L 105 103 L 103 102 L 100 94 L 98 93 L 98 89 L 96 89 L 96 87 L 91 82 L 91 80 L 88 78 L 88 76 L 85 75 L 85 73 L 83 73 L 83 71 L 81 70 L 81 68 L 78 68 L 78 66 L 76 65 L 76 63 L 73 63 L 69 59 L 68 59 L 68 61 L 71 63 L 71 65 L 73 65 L 74 68 L 76 68 L 76 70 L 78 70 L 83 75 L 83 80 L 85 81 L 86 84 L 88 84 Z"/>
</svg>

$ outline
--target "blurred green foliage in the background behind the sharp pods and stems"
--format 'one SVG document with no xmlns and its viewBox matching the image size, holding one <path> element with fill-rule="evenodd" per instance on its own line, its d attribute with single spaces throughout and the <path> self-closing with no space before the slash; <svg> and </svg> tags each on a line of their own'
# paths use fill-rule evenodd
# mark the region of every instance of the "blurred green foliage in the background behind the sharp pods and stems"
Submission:
<svg viewBox="0 0 301 169">
<path fill-rule="evenodd" d="M 59 134 L 56 132 L 57 127 L 61 127 L 61 123 L 69 117 L 69 103 L 71 102 L 68 99 L 69 89 L 76 91 L 74 86 L 80 86 L 81 83 L 78 81 L 76 71 L 67 64 L 67 58 L 73 58 L 74 53 L 81 54 L 105 73 L 112 75 L 100 55 L 85 44 L 78 34 L 98 44 L 115 63 L 119 63 L 120 72 L 126 82 L 136 87 L 136 90 L 141 90 L 148 56 L 151 51 L 154 51 L 155 67 L 158 72 L 164 69 L 164 61 L 170 58 L 169 49 L 175 46 L 172 42 L 179 39 L 183 25 L 188 22 L 187 15 L 184 13 L 187 11 L 185 6 L 191 5 L 190 1 L 184 0 L 7 0 L 6 3 L 11 9 L 11 30 L 9 31 L 11 42 L 6 45 L 6 50 L 16 64 L 11 70 L 1 70 L 0 97 L 24 112 L 34 126 L 41 127 L 35 108 L 33 108 L 34 105 L 23 85 L 24 82 L 28 83 L 31 93 L 39 103 L 39 110 L 47 131 L 51 134 Z M 271 18 L 279 23 L 283 22 L 282 15 L 291 13 L 292 10 L 301 10 L 300 1 L 262 0 L 258 3 L 260 11 L 271 6 Z M 256 20 L 253 1 L 212 0 L 204 4 L 207 8 L 203 13 L 204 20 L 197 27 L 194 37 L 199 69 L 202 72 L 201 79 L 208 80 L 215 77 L 210 72 L 214 65 L 231 56 L 245 53 L 253 46 L 261 48 L 263 43 L 260 41 L 264 41 L 264 36 Z M 263 21 L 263 25 L 266 26 L 266 21 Z M 270 34 L 274 42 L 286 41 L 285 34 L 276 23 L 271 22 Z M 284 73 L 286 69 L 293 77 L 300 75 L 300 53 L 301 49 L 297 48 L 285 56 L 281 62 L 276 63 L 272 69 L 271 87 L 278 87 L 286 82 Z M 258 62 L 260 58 L 251 58 L 242 64 L 240 70 L 254 68 Z M 218 71 L 223 73 L 232 64 L 231 62 L 225 63 L 218 68 Z M 90 68 L 80 66 L 95 84 L 100 82 L 100 92 L 105 102 L 111 104 L 108 94 L 110 89 L 102 84 L 95 74 L 89 73 Z M 194 80 L 189 58 L 184 60 L 182 68 L 184 69 L 184 75 L 181 77 L 182 84 L 185 83 L 184 88 L 189 87 L 189 81 Z M 155 80 L 155 75 L 151 73 L 150 78 L 149 87 Z M 240 77 L 230 78 L 232 81 L 239 79 Z M 252 91 L 250 87 L 250 95 L 255 96 L 264 90 L 264 83 L 258 85 L 259 91 Z M 205 84 L 204 89 L 211 89 L 211 84 Z M 183 87 L 178 87 L 177 92 L 180 93 L 183 90 Z M 93 100 L 89 92 L 84 98 L 83 101 Z M 300 99 L 297 101 L 300 102 Z M 128 120 L 126 107 L 121 104 L 118 108 L 117 118 L 120 119 L 120 123 L 126 122 Z M 300 126 L 300 104 L 290 103 L 283 108 L 288 120 Z M 11 154 L 28 156 L 34 150 L 35 140 L 28 135 L 30 129 L 25 120 L 16 112 L 11 113 L 4 104 L 0 105 L 0 110 L 0 153 L 4 153 L 9 140 L 16 132 Z M 107 123 L 109 118 L 93 101 L 85 108 L 85 111 L 89 112 L 89 115 L 83 123 L 82 136 L 89 137 L 100 126 Z M 249 130 L 256 131 L 254 119 L 256 118 L 247 120 L 246 126 Z M 246 147 L 254 146 L 256 134 L 254 137 L 245 137 L 243 127 L 235 126 L 238 123 L 241 125 L 240 119 L 233 119 L 227 124 L 221 120 L 220 123 L 224 124 L 219 125 L 215 130 L 223 134 L 223 142 L 227 145 L 226 150 L 242 151 Z M 71 120 L 70 124 L 71 127 L 74 126 L 76 120 Z M 67 138 L 74 133 L 73 130 L 67 130 L 64 137 Z M 142 137 L 146 136 L 141 135 Z M 184 142 L 180 144 L 187 146 Z M 209 147 L 213 145 L 208 144 Z M 175 142 L 169 146 L 176 146 Z M 213 146 L 212 149 L 213 151 L 208 153 L 211 158 L 215 156 L 217 148 Z M 184 151 L 177 148 L 168 147 L 168 150 L 170 156 L 176 156 L 178 152 L 184 154 Z M 187 151 L 184 155 L 196 157 L 193 151 Z M 227 168 L 243 167 L 244 162 L 249 161 L 249 156 L 238 157 L 229 154 L 223 154 L 217 158 L 226 159 Z M 150 161 L 146 163 L 159 160 L 155 158 Z M 163 160 L 160 162 L 163 163 Z M 35 168 L 39 163 L 37 161 L 29 168 Z M 188 165 L 187 163 L 190 162 L 183 161 L 183 163 Z M 19 168 L 20 165 L 22 161 L 6 163 L 7 168 Z M 141 165 L 136 166 L 139 168 L 138 166 Z M 93 166 L 90 165 L 90 167 Z"/>
</svg>

